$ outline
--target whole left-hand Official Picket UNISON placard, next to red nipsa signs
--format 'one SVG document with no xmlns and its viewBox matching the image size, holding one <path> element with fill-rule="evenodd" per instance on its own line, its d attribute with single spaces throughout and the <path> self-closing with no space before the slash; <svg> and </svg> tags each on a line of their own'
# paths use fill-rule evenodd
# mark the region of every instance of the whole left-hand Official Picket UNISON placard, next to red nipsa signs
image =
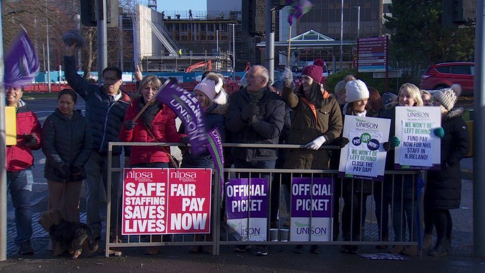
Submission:
<svg viewBox="0 0 485 273">
<path fill-rule="evenodd" d="M 266 241 L 268 179 L 231 179 L 226 183 L 227 224 L 239 241 Z"/>
</svg>

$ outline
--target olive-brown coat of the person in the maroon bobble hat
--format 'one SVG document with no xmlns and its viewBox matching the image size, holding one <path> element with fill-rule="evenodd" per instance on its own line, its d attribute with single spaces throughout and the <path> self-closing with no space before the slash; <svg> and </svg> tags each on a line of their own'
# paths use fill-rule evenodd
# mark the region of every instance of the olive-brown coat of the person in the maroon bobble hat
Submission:
<svg viewBox="0 0 485 273">
<path fill-rule="evenodd" d="M 293 120 L 288 144 L 307 144 L 319 136 L 324 136 L 325 144 L 330 144 L 342 132 L 342 114 L 337 100 L 327 91 L 323 93 L 321 105 L 312 108 L 293 89 L 285 86 L 283 98 L 293 108 Z M 317 151 L 292 149 L 286 154 L 287 169 L 326 170 L 329 167 L 329 153 L 326 149 Z"/>
</svg>

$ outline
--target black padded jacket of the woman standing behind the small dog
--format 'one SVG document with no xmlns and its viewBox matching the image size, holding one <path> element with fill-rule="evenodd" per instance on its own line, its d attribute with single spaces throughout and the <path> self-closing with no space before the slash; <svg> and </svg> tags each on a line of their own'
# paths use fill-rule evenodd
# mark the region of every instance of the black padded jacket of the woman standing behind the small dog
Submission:
<svg viewBox="0 0 485 273">
<path fill-rule="evenodd" d="M 46 156 L 45 178 L 58 182 L 86 179 L 84 165 L 92 153 L 92 137 L 91 128 L 81 110 L 75 110 L 69 119 L 56 109 L 44 122 L 42 140 L 42 152 Z M 61 178 L 63 164 L 81 167 L 81 176 Z"/>
</svg>

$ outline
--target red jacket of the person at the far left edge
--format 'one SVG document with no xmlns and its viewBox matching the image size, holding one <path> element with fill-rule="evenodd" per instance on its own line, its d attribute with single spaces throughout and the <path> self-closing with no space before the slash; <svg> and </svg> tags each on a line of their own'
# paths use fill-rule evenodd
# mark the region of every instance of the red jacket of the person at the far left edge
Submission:
<svg viewBox="0 0 485 273">
<path fill-rule="evenodd" d="M 29 168 L 34 164 L 32 150 L 38 150 L 41 147 L 40 134 L 41 127 L 37 116 L 27 105 L 17 108 L 17 145 L 6 146 L 6 168 L 7 172 L 18 172 Z M 37 135 L 37 145 L 28 147 L 24 145 L 23 134 L 35 133 Z"/>
</svg>

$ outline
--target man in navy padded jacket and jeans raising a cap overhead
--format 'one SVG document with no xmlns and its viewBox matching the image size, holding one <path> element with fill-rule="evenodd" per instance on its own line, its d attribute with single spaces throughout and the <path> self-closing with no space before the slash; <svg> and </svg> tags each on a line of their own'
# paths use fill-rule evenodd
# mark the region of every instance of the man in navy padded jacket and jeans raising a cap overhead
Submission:
<svg viewBox="0 0 485 273">
<path fill-rule="evenodd" d="M 116 67 L 104 69 L 102 80 L 103 85 L 93 85 L 81 78 L 76 71 L 74 51 L 76 43 L 66 46 L 66 56 L 64 56 L 64 70 L 68 84 L 76 91 L 86 102 L 86 118 L 89 121 L 92 132 L 92 149 L 91 157 L 86 163 L 87 171 L 87 194 L 86 194 L 86 211 L 87 224 L 92 228 L 94 237 L 101 238 L 101 217 L 99 201 L 99 179 L 102 178 L 104 188 L 107 189 L 107 149 L 108 142 L 118 141 L 123 119 L 125 118 L 126 109 L 130 103 L 130 97 L 127 93 L 120 90 L 121 70 Z M 121 147 L 113 148 L 112 167 L 120 167 Z M 116 226 L 116 208 L 118 202 L 118 173 L 111 176 L 111 221 L 110 230 L 116 231 L 121 227 Z M 121 219 L 119 219 L 121 221 Z"/>
</svg>

